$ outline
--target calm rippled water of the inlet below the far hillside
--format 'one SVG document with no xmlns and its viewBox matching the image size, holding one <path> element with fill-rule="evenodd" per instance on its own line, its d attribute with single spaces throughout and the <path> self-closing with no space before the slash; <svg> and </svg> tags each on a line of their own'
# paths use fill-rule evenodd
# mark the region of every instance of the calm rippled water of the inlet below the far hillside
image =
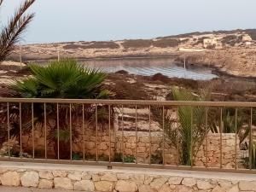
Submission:
<svg viewBox="0 0 256 192">
<path fill-rule="evenodd" d="M 179 67 L 172 58 L 150 58 L 150 59 L 115 59 L 115 60 L 94 60 L 83 61 L 85 66 L 97 67 L 106 73 L 115 73 L 120 70 L 125 70 L 131 74 L 151 76 L 155 73 L 162 73 L 170 78 L 184 78 L 209 80 L 218 78 L 212 74 L 212 70 L 207 67 Z"/>
</svg>

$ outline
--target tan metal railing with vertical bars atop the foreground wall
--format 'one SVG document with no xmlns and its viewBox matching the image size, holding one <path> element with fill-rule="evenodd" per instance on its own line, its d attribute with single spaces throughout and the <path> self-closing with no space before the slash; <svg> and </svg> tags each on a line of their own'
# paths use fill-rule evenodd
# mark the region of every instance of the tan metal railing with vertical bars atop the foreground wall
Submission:
<svg viewBox="0 0 256 192">
<path fill-rule="evenodd" d="M 72 163 L 72 164 L 87 164 L 87 165 L 101 165 L 101 166 L 137 166 L 137 167 L 154 167 L 154 168 L 169 168 L 169 169 L 182 169 L 182 170 L 199 170 L 199 171 L 216 171 L 216 172 L 247 172 L 247 173 L 256 173 L 254 170 L 255 164 L 255 148 L 253 148 L 253 117 L 254 117 L 254 108 L 256 108 L 255 102 L 177 102 L 177 101 L 134 101 L 134 100 L 79 100 L 79 99 L 25 99 L 25 98 L 0 98 L 0 122 L 1 129 L 3 133 L 7 133 L 6 137 L 2 137 L 1 145 L 2 149 L 4 147 L 4 143 L 7 143 L 8 151 L 7 154 L 1 154 L 0 160 L 11 160 L 11 161 L 32 161 L 32 162 L 45 162 L 45 163 Z M 188 107 L 188 108 L 186 108 Z M 127 121 L 127 117 L 125 116 L 124 108 L 132 108 L 133 120 L 134 121 L 134 129 L 125 130 L 125 122 Z M 147 108 L 148 112 L 144 110 L 144 113 L 138 113 L 138 110 Z M 200 108 L 203 113 L 201 113 L 201 118 L 196 113 L 195 108 Z M 235 110 L 234 119 L 232 121 L 232 125 L 235 127 L 235 131 L 230 131 L 234 135 L 234 154 L 232 156 L 232 160 L 228 163 L 231 163 L 232 167 L 225 167 L 223 160 L 226 154 L 224 152 L 224 108 L 233 108 Z M 104 109 L 104 110 L 102 110 Z M 119 110 L 117 110 L 119 109 Z M 183 118 L 183 113 L 186 113 L 186 110 L 189 109 L 190 117 L 187 119 L 190 120 L 189 131 L 186 132 L 189 141 L 189 155 L 185 156 L 184 154 L 184 141 L 182 143 L 183 133 L 184 131 L 183 123 L 180 118 Z M 210 115 L 209 112 L 213 110 L 213 113 Z M 240 126 L 241 132 L 247 135 L 243 138 L 244 141 L 247 141 L 245 148 L 246 156 L 242 157 L 238 156 L 238 153 L 241 152 L 241 144 L 238 140 L 241 137 L 238 137 L 240 134 L 238 132 L 238 120 L 240 119 L 238 115 L 238 111 L 243 109 L 245 111 L 245 117 L 243 124 Z M 38 112 L 39 111 L 39 112 Z M 102 115 L 102 111 L 104 114 Z M 153 113 L 154 111 L 154 113 Z M 156 113 L 155 113 L 156 112 Z M 188 112 L 188 111 L 187 111 Z M 167 113 L 172 113 L 172 118 L 167 118 Z M 39 114 L 39 115 L 38 115 Z M 55 114 L 55 115 L 53 115 Z M 90 114 L 90 115 L 89 115 Z M 104 116 L 103 120 L 99 118 L 99 116 Z M 141 130 L 138 127 L 139 117 L 143 116 L 144 119 L 147 119 L 148 122 L 143 120 L 146 125 L 146 130 Z M 161 115 L 161 120 L 157 119 Z M 218 117 L 216 117 L 216 115 Z M 230 113 L 228 114 L 230 115 Z M 88 117 L 89 116 L 89 117 Z M 156 117 L 157 116 L 157 117 Z M 214 118 L 212 118 L 214 117 Z M 228 116 L 230 118 L 230 116 Z M 78 120 L 79 118 L 79 120 Z M 49 122 L 49 119 L 55 119 L 55 123 Z M 85 156 L 86 152 L 86 129 L 89 127 L 87 125 L 90 119 L 90 127 L 91 131 L 95 134 L 95 157 L 93 160 L 88 158 L 86 160 Z M 199 124 L 199 119 L 203 119 Z M 213 131 L 210 129 L 210 124 L 212 124 L 211 120 L 216 120 L 219 124 L 216 126 L 218 131 L 215 132 L 215 136 L 213 136 Z M 116 124 L 116 120 L 119 121 L 119 125 Z M 147 121 L 146 120 L 146 121 Z M 168 121 L 170 120 L 170 121 Z M 63 121 L 67 122 L 65 127 L 66 133 L 63 132 Z M 41 124 L 38 124 L 41 122 Z M 79 123 L 80 122 L 80 123 Z M 157 128 L 154 127 L 153 123 L 157 122 Z M 231 122 L 231 121 L 230 121 Z M 55 124 L 55 125 L 50 125 Z M 104 124 L 104 125 L 102 125 Z M 200 125 L 200 126 L 198 126 Z M 50 130 L 51 127 L 55 127 L 54 131 Z M 129 125 L 126 125 L 129 128 Z M 36 129 L 41 130 L 41 137 L 44 137 L 44 155 L 36 155 L 36 148 L 38 147 L 37 141 L 35 137 Z M 99 148 L 102 140 L 99 142 L 99 137 L 102 137 L 102 129 L 99 127 L 104 127 L 104 132 L 107 134 L 108 139 L 104 140 L 106 143 L 107 149 L 105 148 L 101 153 L 107 154 L 108 158 L 102 160 L 100 158 Z M 115 128 L 114 128 L 115 127 Z M 127 129 L 128 129 L 127 128 Z M 130 127 L 131 128 L 131 127 Z M 129 129 L 130 129 L 129 128 Z M 168 130 L 167 130 L 168 129 Z M 202 134 L 201 143 L 198 141 L 194 141 L 195 139 L 201 138 L 196 137 L 196 132 L 200 130 Z M 203 131 L 202 131 L 203 130 Z M 76 131 L 82 132 L 82 138 L 77 144 L 80 144 L 82 147 L 80 149 L 80 157 L 73 157 L 74 150 L 74 140 Z M 100 132 L 99 132 L 100 131 Z M 205 134 L 203 133 L 205 131 Z M 117 134 L 119 132 L 120 134 Z M 135 148 L 133 148 L 133 154 L 126 155 L 125 154 L 125 133 L 132 133 L 132 137 L 135 137 L 135 141 L 133 141 Z M 139 136 L 143 134 L 142 136 Z M 154 149 L 153 140 L 155 140 L 154 134 L 160 133 L 159 146 L 158 151 L 160 151 L 160 157 L 158 158 L 158 162 L 152 162 L 152 157 L 156 156 L 156 150 Z M 169 135 L 168 135 L 169 134 Z M 3 134 L 4 135 L 4 134 Z M 147 135 L 147 137 L 145 137 Z M 218 138 L 218 145 L 210 146 L 209 141 L 211 137 Z M 232 137 L 233 137 L 232 135 Z M 32 140 L 31 144 L 26 147 L 23 146 L 25 137 L 30 137 Z M 119 139 L 117 139 L 119 137 Z M 64 139 L 63 139 L 64 138 Z M 91 136 L 90 139 L 94 137 Z M 148 143 L 143 143 L 143 148 L 147 151 L 148 157 L 146 160 L 138 160 L 138 148 L 141 138 L 147 138 Z M 174 138 L 176 141 L 171 141 L 171 138 Z M 27 139 L 29 140 L 29 139 Z M 63 140 L 65 140 L 63 142 Z M 118 141 L 117 141 L 118 140 Z M 119 141 L 120 140 L 120 141 Z M 114 141 L 114 142 L 113 142 Z M 14 145 L 11 142 L 16 142 L 19 145 L 20 153 L 13 155 L 12 150 Z M 55 144 L 53 144 L 55 143 Z M 68 144 L 67 144 L 68 143 Z M 90 142 L 91 143 L 91 142 Z M 120 143 L 119 147 L 119 160 L 114 160 L 113 156 L 116 153 L 116 143 Z M 174 143 L 174 144 L 173 144 Z M 204 147 L 201 146 L 204 143 Z M 239 143 L 239 144 L 237 144 Z M 132 143 L 131 143 L 132 144 Z M 171 150 L 168 152 L 172 156 L 174 156 L 175 162 L 167 162 L 166 151 L 168 149 L 173 148 L 175 146 L 176 150 Z M 25 157 L 23 154 L 26 152 L 26 148 L 31 147 L 32 150 L 28 157 Z M 113 146 L 114 145 L 114 146 Z M 198 145 L 198 146 L 197 146 Z M 27 147 L 28 146 L 28 147 Z M 146 147 L 145 147 L 146 146 Z M 65 148 L 66 150 L 65 150 Z M 230 146 L 228 146 L 230 148 Z M 51 149 L 49 149 L 51 148 Z M 53 149 L 54 148 L 54 149 Z M 203 156 L 201 159 L 204 159 L 204 163 L 201 166 L 196 165 L 196 151 L 194 148 L 198 148 L 197 153 L 201 150 Z M 201 149 L 200 149 L 201 148 Z M 211 160 L 209 159 L 209 148 L 218 148 L 217 154 L 218 162 L 216 165 L 218 166 L 210 166 Z M 1 149 L 1 150 L 2 150 Z M 90 149 L 90 148 L 89 148 Z M 55 156 L 53 157 L 49 155 L 49 150 L 51 152 L 55 152 Z M 61 150 L 61 151 L 60 151 Z M 29 154 L 26 152 L 26 154 Z M 146 152 L 145 152 L 146 153 Z M 224 154 L 225 153 L 225 154 Z M 181 160 L 181 156 L 183 155 L 183 160 Z M 125 160 L 125 158 L 129 160 Z M 186 159 L 187 158 L 187 159 Z M 161 160 L 159 160 L 161 159 Z M 241 163 L 241 161 L 246 161 L 246 163 Z M 226 160 L 225 160 L 226 161 Z M 186 162 L 186 163 L 184 163 Z M 226 162 L 227 163 L 227 162 Z M 186 165 L 185 165 L 186 164 Z M 242 164 L 243 166 L 239 166 L 238 164 Z M 247 166 L 245 166 L 247 165 Z"/>
</svg>

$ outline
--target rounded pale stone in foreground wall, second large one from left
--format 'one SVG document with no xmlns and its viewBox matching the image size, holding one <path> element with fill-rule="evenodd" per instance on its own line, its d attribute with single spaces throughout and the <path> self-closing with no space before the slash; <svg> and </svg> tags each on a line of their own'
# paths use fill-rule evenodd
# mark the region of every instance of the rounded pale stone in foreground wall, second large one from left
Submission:
<svg viewBox="0 0 256 192">
<path fill-rule="evenodd" d="M 39 175 L 38 172 L 25 172 L 23 176 L 20 177 L 21 185 L 24 187 L 38 187 Z"/>
</svg>

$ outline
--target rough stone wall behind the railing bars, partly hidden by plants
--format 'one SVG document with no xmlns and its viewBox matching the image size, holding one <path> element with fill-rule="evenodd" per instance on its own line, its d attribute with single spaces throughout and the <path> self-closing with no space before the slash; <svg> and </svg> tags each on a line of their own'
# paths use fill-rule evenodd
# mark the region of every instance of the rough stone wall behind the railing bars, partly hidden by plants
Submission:
<svg viewBox="0 0 256 192">
<path fill-rule="evenodd" d="M 105 156 L 106 160 L 108 159 L 109 152 L 111 153 L 112 159 L 115 154 L 122 154 L 124 152 L 124 156 L 137 157 L 138 163 L 149 163 L 149 160 L 151 159 L 152 163 L 157 164 L 163 159 L 163 137 L 162 132 L 160 131 L 152 131 L 150 137 L 149 132 L 147 131 L 137 131 L 136 137 L 135 131 L 119 131 L 118 129 L 111 129 L 110 142 L 108 130 L 98 130 L 97 137 L 96 131 L 93 129 L 85 129 L 84 136 L 81 130 L 81 127 L 77 127 L 77 136 L 73 141 L 73 152 L 81 154 L 81 156 L 84 151 L 86 154 L 90 154 L 90 156 L 94 156 L 94 158 L 96 158 L 97 151 L 98 156 Z M 44 154 L 44 129 L 42 130 L 37 128 L 35 130 L 34 137 L 35 149 L 42 150 Z M 32 154 L 32 135 L 22 137 L 22 141 L 22 147 L 26 149 L 27 153 Z M 151 144 L 149 144 L 149 141 L 151 141 Z M 110 145 L 111 148 L 109 150 Z M 239 139 L 236 139 L 236 134 L 225 133 L 222 135 L 222 145 L 223 166 L 225 168 L 234 168 L 235 155 L 237 154 L 238 158 L 240 154 Z M 207 140 L 203 142 L 201 148 L 198 150 L 198 154 L 195 158 L 195 166 L 219 167 L 221 157 L 219 146 L 220 135 L 208 134 Z M 235 148 L 237 149 L 236 152 Z M 50 141 L 48 141 L 47 150 L 49 157 L 54 156 L 54 145 Z M 152 154 L 154 157 L 149 158 L 149 154 Z M 166 143 L 164 155 L 166 164 L 177 164 L 176 148 L 168 146 Z"/>
</svg>

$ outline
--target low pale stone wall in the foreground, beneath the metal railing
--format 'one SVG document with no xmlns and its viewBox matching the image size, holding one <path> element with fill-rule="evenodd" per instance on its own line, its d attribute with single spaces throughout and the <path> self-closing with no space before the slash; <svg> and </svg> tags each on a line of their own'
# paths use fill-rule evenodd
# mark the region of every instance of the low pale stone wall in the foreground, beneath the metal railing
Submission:
<svg viewBox="0 0 256 192">
<path fill-rule="evenodd" d="M 66 167 L 66 168 L 65 168 Z M 194 174 L 195 173 L 195 174 Z M 3 186 L 69 189 L 102 192 L 239 192 L 256 191 L 256 178 L 245 174 L 206 172 L 160 172 L 159 170 L 93 166 L 7 165 L 0 167 Z M 239 179 L 238 179 L 239 178 Z M 1 189 L 1 187 L 0 187 Z"/>
</svg>

